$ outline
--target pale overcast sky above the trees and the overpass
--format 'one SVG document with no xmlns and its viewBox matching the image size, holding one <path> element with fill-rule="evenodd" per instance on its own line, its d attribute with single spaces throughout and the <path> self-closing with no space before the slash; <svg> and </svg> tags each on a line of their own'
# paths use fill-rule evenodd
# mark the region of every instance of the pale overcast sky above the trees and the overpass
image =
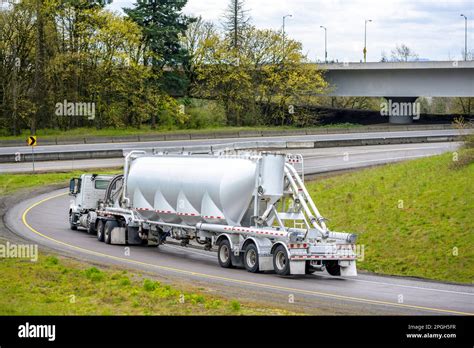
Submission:
<svg viewBox="0 0 474 348">
<path fill-rule="evenodd" d="M 131 7 L 134 0 L 114 0 L 109 7 Z M 286 31 L 303 43 L 311 60 L 324 60 L 324 30 L 328 28 L 328 57 L 339 61 L 363 58 L 364 21 L 367 60 L 379 61 L 397 44 L 406 44 L 420 58 L 462 59 L 464 18 L 468 18 L 468 47 L 474 49 L 474 0 L 246 0 L 252 23 L 259 28 Z M 228 0 L 188 0 L 184 12 L 219 24 Z"/>
</svg>

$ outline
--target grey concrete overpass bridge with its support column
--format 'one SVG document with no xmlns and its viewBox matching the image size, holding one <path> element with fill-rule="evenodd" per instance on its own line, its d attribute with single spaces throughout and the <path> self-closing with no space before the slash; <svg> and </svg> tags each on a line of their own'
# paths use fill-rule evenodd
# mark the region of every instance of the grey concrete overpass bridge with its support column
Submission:
<svg viewBox="0 0 474 348">
<path fill-rule="evenodd" d="M 319 67 L 332 86 L 328 96 L 386 98 L 390 123 L 413 122 L 419 97 L 474 97 L 474 61 L 335 63 Z"/>
</svg>

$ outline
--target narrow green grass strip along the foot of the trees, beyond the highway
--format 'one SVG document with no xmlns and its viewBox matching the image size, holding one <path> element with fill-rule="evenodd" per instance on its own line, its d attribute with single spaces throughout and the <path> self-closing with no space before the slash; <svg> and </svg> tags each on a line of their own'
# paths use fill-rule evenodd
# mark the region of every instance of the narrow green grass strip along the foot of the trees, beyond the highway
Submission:
<svg viewBox="0 0 474 348">
<path fill-rule="evenodd" d="M 355 128 L 358 125 L 344 123 L 326 125 L 312 128 Z M 312 129 L 311 128 L 311 129 Z M 72 137 L 125 137 L 134 135 L 150 135 L 150 134 L 199 134 L 199 133 L 210 133 L 210 132 L 243 132 L 243 131 L 280 131 L 280 130 L 296 130 L 301 128 L 296 127 L 205 127 L 202 129 L 169 129 L 169 128 L 158 128 L 151 129 L 149 126 L 143 126 L 142 128 L 74 128 L 70 130 L 60 129 L 39 129 L 36 135 L 39 139 L 66 139 Z M 25 140 L 30 135 L 28 130 L 23 130 L 21 135 L 8 136 L 0 134 L 0 140 Z"/>
</svg>

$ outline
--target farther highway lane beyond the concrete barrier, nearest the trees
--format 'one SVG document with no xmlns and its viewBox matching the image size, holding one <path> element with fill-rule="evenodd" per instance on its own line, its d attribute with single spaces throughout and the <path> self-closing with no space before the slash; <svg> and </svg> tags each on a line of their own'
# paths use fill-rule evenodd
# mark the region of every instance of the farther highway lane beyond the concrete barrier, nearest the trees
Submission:
<svg viewBox="0 0 474 348">
<path fill-rule="evenodd" d="M 465 132 L 472 132 L 466 130 Z M 102 144 L 74 144 L 74 145 L 44 145 L 36 146 L 36 153 L 52 152 L 74 152 L 74 151 L 97 151 L 97 150 L 131 150 L 151 149 L 158 147 L 175 146 L 206 146 L 217 144 L 234 144 L 252 141 L 322 141 L 341 139 L 375 139 L 375 138 L 399 138 L 419 136 L 448 136 L 459 135 L 458 130 L 425 130 L 404 132 L 369 132 L 369 133 L 344 133 L 344 134 L 320 134 L 320 135 L 294 135 L 278 137 L 255 137 L 255 138 L 229 138 L 229 139 L 203 139 L 203 140 L 175 140 L 175 141 L 151 141 L 134 143 L 102 143 Z M 41 144 L 41 139 L 38 140 Z M 28 154 L 31 148 L 28 146 L 1 147 L 0 155 L 12 155 L 15 153 Z"/>
</svg>

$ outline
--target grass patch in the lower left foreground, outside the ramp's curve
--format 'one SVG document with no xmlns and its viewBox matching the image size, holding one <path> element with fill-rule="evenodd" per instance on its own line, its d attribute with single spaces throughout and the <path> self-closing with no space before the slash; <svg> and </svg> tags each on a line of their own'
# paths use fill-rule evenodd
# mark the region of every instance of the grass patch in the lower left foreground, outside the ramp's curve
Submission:
<svg viewBox="0 0 474 348">
<path fill-rule="evenodd" d="M 0 315 L 289 315 L 40 254 L 37 262 L 0 258 Z"/>
</svg>

